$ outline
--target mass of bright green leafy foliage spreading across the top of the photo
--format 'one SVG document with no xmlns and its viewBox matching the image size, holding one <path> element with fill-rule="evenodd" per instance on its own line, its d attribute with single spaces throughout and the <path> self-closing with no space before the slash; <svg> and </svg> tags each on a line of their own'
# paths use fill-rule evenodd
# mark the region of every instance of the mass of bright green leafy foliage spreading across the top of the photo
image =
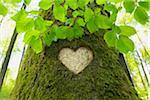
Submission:
<svg viewBox="0 0 150 100">
<path fill-rule="evenodd" d="M 24 3 L 31 0 L 1 0 L 0 15 L 7 15 L 6 4 Z M 120 6 L 115 4 L 119 3 Z M 149 1 L 137 0 L 41 0 L 40 10 L 19 10 L 12 19 L 16 22 L 16 31 L 25 33 L 24 42 L 36 53 L 44 46 L 50 46 L 58 39 L 69 41 L 93 35 L 104 30 L 104 40 L 109 47 L 115 47 L 122 53 L 134 50 L 134 43 L 129 38 L 136 34 L 134 27 L 115 24 L 118 12 L 125 8 L 142 25 L 149 21 Z"/>
</svg>

